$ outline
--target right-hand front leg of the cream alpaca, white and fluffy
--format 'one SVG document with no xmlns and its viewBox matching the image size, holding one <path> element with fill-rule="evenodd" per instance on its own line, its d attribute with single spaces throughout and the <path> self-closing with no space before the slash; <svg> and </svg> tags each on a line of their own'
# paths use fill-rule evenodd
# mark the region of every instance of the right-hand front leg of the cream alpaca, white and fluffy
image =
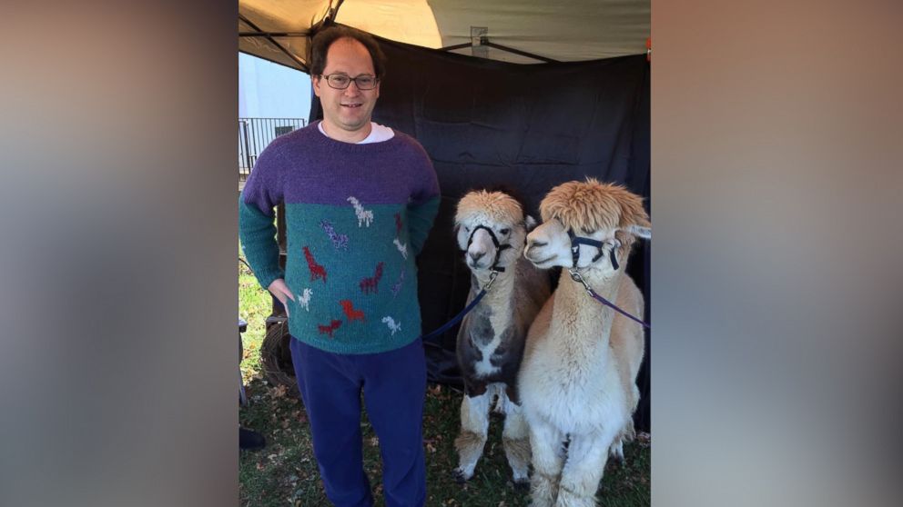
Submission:
<svg viewBox="0 0 903 507">
<path fill-rule="evenodd" d="M 594 507 L 595 492 L 620 429 L 592 435 L 572 435 L 555 507 Z"/>
</svg>

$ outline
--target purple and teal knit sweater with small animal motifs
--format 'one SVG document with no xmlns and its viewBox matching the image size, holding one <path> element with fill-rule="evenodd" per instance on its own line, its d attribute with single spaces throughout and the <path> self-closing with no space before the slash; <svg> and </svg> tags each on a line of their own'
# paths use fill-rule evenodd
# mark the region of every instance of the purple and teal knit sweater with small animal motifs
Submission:
<svg viewBox="0 0 903 507">
<path fill-rule="evenodd" d="M 342 143 L 313 123 L 260 154 L 238 199 L 238 233 L 260 285 L 284 278 L 295 295 L 288 302 L 295 339 L 331 353 L 379 353 L 421 335 L 414 258 L 438 211 L 436 173 L 411 136 Z"/>
</svg>

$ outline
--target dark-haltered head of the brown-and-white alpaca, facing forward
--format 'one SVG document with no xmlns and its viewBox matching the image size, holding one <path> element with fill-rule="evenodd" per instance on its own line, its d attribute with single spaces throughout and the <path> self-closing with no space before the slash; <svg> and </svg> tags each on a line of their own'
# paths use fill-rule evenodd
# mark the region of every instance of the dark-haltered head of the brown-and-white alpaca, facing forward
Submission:
<svg viewBox="0 0 903 507">
<path fill-rule="evenodd" d="M 523 205 L 511 195 L 485 190 L 464 195 L 454 216 L 458 247 L 472 271 L 492 268 L 496 255 L 499 267 L 512 265 L 523 252 L 527 230 L 535 224 L 532 217 L 524 217 Z"/>
</svg>

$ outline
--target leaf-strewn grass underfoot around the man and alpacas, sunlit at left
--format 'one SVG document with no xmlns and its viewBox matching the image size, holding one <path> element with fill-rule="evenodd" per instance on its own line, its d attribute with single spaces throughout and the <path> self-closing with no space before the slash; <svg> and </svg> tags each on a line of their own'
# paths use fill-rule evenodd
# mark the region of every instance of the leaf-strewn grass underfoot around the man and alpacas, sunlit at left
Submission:
<svg viewBox="0 0 903 507">
<path fill-rule="evenodd" d="M 269 293 L 260 289 L 254 276 L 238 264 L 239 315 L 248 322 L 243 335 L 241 373 L 249 406 L 239 409 L 242 426 L 262 432 L 267 447 L 241 452 L 238 462 L 240 505 L 243 507 L 327 506 L 320 472 L 313 457 L 307 415 L 303 404 L 281 386 L 270 385 L 259 363 L 264 321 L 270 312 Z M 462 395 L 438 384 L 430 384 L 424 408 L 424 445 L 427 462 L 428 506 L 520 507 L 529 494 L 515 492 L 510 469 L 502 450 L 502 421 L 493 417 L 489 441 L 476 472 L 464 485 L 452 480 L 457 465 L 454 438 L 458 434 Z M 376 505 L 382 506 L 380 452 L 376 434 L 361 421 L 364 438 L 364 469 L 370 476 Z M 603 505 L 633 507 L 650 504 L 650 453 L 647 433 L 624 447 L 626 464 L 609 462 L 598 497 Z"/>
</svg>

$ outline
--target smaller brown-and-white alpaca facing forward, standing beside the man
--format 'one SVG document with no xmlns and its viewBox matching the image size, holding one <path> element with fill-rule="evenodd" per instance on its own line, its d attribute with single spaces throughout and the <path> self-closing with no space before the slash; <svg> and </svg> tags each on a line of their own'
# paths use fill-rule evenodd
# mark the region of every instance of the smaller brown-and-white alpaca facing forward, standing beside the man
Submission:
<svg viewBox="0 0 903 507">
<path fill-rule="evenodd" d="M 461 434 L 455 440 L 459 464 L 454 478 L 472 478 L 489 430 L 489 410 L 506 413 L 502 443 L 518 488 L 529 482 L 530 444 L 516 385 L 523 343 L 533 317 L 551 292 L 548 276 L 523 259 L 532 217 L 502 192 L 476 191 L 458 203 L 455 230 L 471 270 L 467 303 L 491 289 L 462 320 L 457 357 L 464 381 Z"/>
</svg>

